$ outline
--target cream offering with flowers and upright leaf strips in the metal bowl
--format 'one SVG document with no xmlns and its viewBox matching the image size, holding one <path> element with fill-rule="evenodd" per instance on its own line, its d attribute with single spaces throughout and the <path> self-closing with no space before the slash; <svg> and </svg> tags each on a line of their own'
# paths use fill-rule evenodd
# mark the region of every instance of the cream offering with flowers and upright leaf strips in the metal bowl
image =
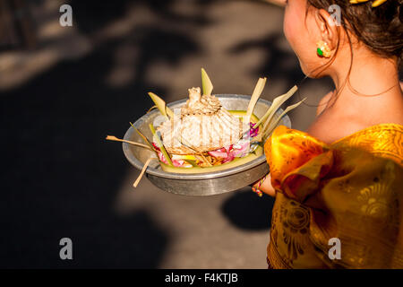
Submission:
<svg viewBox="0 0 403 287">
<path fill-rule="evenodd" d="M 209 76 L 201 69 L 202 90 L 189 89 L 189 100 L 180 109 L 171 110 L 164 100 L 149 92 L 158 108 L 160 117 L 150 124 L 152 139 L 148 139 L 134 126 L 144 143 L 133 143 L 108 135 L 108 140 L 132 143 L 155 152 L 162 170 L 175 173 L 201 173 L 236 167 L 259 157 L 263 143 L 279 125 L 279 120 L 302 101 L 287 107 L 276 115 L 279 107 L 297 90 L 294 86 L 286 94 L 273 100 L 266 113 L 258 118 L 253 114 L 257 100 L 262 94 L 266 78 L 260 78 L 246 110 L 227 110 L 211 94 Z M 150 110 L 151 110 L 150 109 Z M 149 110 L 149 112 L 150 112 Z M 141 170 L 147 169 L 149 161 Z M 137 180 L 137 182 L 138 182 Z"/>
</svg>

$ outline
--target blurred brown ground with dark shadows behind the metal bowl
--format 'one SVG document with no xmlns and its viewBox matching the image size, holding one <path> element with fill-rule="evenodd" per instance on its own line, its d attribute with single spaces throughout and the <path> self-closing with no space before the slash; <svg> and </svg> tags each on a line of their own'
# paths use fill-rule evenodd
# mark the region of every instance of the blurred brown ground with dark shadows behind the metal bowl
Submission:
<svg viewBox="0 0 403 287">
<path fill-rule="evenodd" d="M 73 27 L 58 23 L 73 7 Z M 37 48 L 0 52 L 4 163 L 0 267 L 266 268 L 273 200 L 250 188 L 175 196 L 139 171 L 119 143 L 128 122 L 200 85 L 251 94 L 269 78 L 272 100 L 303 79 L 282 34 L 282 9 L 260 1 L 35 0 Z M 318 100 L 329 80 L 309 80 L 289 103 Z M 288 103 L 288 104 L 289 104 Z M 304 130 L 315 107 L 290 113 Z M 59 239 L 73 239 L 73 261 Z"/>
</svg>

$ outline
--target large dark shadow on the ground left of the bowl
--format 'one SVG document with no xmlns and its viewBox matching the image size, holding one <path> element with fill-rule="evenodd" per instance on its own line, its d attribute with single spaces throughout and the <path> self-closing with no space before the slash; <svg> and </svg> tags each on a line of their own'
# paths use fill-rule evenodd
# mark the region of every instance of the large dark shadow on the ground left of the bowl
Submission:
<svg viewBox="0 0 403 287">
<path fill-rule="evenodd" d="M 134 2 L 114 1 L 107 7 L 99 1 L 83 3 L 73 1 L 75 8 L 90 5 L 81 8 L 93 13 L 78 13 L 75 21 L 82 32 L 90 33 L 117 20 Z M 147 2 L 155 11 L 164 11 L 170 22 L 185 22 L 168 13 L 164 5 L 169 3 Z M 204 24 L 201 16 L 199 20 L 197 24 Z M 133 64 L 133 81 L 113 87 L 106 77 L 121 45 L 138 51 L 140 60 Z M 125 217 L 113 211 L 131 167 L 121 144 L 104 139 L 124 135 L 128 122 L 150 108 L 151 102 L 142 100 L 150 87 L 167 93 L 168 87 L 145 77 L 150 65 L 178 65 L 183 57 L 199 52 L 191 35 L 144 25 L 2 93 L 2 134 L 9 140 L 2 143 L 7 169 L 1 175 L 0 267 L 159 266 L 169 242 L 167 230 L 145 210 Z M 73 261 L 59 258 L 59 240 L 64 237 L 73 240 Z"/>
</svg>

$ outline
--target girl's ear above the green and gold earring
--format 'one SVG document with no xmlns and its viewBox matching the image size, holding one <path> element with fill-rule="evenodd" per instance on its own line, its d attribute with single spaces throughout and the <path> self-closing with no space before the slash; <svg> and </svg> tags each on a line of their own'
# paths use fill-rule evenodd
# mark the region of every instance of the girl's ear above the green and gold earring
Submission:
<svg viewBox="0 0 403 287">
<path fill-rule="evenodd" d="M 335 49 L 339 41 L 339 27 L 334 18 L 326 10 L 319 9 L 315 14 L 315 22 L 318 25 L 322 40 L 328 43 L 331 50 Z"/>
</svg>

